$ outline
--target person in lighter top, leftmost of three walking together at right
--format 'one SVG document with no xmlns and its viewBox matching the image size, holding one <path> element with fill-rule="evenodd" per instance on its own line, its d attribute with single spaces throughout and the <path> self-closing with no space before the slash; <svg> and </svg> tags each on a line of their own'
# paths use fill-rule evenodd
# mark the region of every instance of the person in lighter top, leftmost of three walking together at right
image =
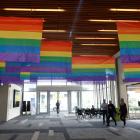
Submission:
<svg viewBox="0 0 140 140">
<path fill-rule="evenodd" d="M 107 106 L 106 100 L 103 100 L 103 103 L 101 104 L 101 111 L 103 113 L 103 125 L 105 125 L 105 122 L 107 121 Z"/>
</svg>

